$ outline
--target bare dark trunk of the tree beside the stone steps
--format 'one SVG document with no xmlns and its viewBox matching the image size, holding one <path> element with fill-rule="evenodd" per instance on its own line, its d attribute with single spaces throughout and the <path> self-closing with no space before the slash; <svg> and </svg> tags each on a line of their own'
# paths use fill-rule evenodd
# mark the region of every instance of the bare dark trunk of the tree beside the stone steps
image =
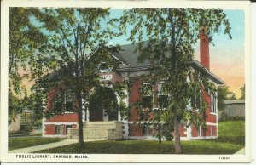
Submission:
<svg viewBox="0 0 256 165">
<path fill-rule="evenodd" d="M 77 94 L 77 100 L 79 102 L 79 147 L 84 146 L 84 134 L 83 134 L 83 105 L 81 93 Z"/>
</svg>

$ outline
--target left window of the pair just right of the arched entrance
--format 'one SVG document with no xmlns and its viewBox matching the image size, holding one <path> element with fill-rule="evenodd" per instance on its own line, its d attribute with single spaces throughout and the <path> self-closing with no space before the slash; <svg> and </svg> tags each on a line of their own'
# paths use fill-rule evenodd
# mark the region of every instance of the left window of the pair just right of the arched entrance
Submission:
<svg viewBox="0 0 256 165">
<path fill-rule="evenodd" d="M 143 107 L 153 107 L 153 88 L 148 83 L 143 83 Z"/>
</svg>

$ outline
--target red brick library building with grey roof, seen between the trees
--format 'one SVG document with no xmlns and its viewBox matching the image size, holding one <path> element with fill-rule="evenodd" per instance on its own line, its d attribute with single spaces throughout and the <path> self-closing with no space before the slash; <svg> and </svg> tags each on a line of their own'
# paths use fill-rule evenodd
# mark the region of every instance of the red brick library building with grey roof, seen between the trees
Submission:
<svg viewBox="0 0 256 165">
<path fill-rule="evenodd" d="M 147 74 L 150 64 L 148 62 L 138 63 L 138 53 L 135 53 L 137 44 L 123 45 L 122 50 L 118 54 L 114 54 L 114 58 L 119 60 L 122 65 L 116 72 L 105 70 L 101 71 L 100 76 L 105 82 L 121 82 L 126 79 L 134 80 L 131 88 L 125 91 L 126 98 L 123 100 L 126 105 L 130 105 L 140 98 L 140 88 L 143 88 L 143 81 L 141 76 Z M 202 68 L 207 77 L 216 86 L 224 82 L 210 71 L 209 60 L 209 45 L 207 37 L 201 34 L 200 36 L 200 52 L 201 62 L 194 60 L 193 67 Z M 193 68 L 191 68 L 193 69 Z M 161 83 L 156 84 L 156 88 L 160 91 Z M 64 104 L 66 107 L 70 102 L 71 93 L 67 90 L 65 92 Z M 148 95 L 148 98 L 160 99 L 164 95 Z M 49 98 L 58 98 L 58 93 L 55 89 L 49 91 Z M 207 129 L 191 127 L 180 127 L 181 139 L 208 139 L 218 137 L 218 111 L 217 111 L 217 94 L 203 93 L 203 98 L 208 103 L 206 111 Z M 146 99 L 146 97 L 145 97 Z M 63 103 L 62 102 L 62 103 Z M 53 100 L 48 100 L 46 111 L 53 104 Z M 154 108 L 157 108 L 155 105 Z M 122 120 L 120 115 L 116 119 L 109 120 L 108 115 L 104 110 L 89 111 L 85 110 L 83 113 L 84 121 L 84 139 L 155 139 L 152 135 L 154 129 L 145 126 L 140 128 L 135 124 L 138 120 L 138 113 L 136 108 L 131 108 L 131 117 L 129 120 Z M 72 111 L 66 111 L 62 115 L 56 115 L 50 119 L 43 120 L 43 136 L 77 138 L 78 136 L 78 115 Z"/>
</svg>

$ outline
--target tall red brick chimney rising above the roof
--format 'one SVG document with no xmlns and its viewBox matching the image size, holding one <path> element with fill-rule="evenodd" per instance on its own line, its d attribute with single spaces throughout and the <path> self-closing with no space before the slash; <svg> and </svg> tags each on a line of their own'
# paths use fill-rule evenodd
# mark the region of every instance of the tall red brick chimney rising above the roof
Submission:
<svg viewBox="0 0 256 165">
<path fill-rule="evenodd" d="M 201 65 L 204 65 L 208 70 L 210 70 L 209 40 L 208 40 L 208 37 L 204 35 L 203 29 L 201 29 L 199 36 L 200 36 L 200 62 L 201 62 Z"/>
</svg>

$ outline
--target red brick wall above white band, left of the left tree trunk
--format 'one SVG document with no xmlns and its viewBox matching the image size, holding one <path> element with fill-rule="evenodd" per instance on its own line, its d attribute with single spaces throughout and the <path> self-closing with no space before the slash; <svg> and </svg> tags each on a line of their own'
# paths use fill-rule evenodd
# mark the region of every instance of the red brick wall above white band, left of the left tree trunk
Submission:
<svg viewBox="0 0 256 165">
<path fill-rule="evenodd" d="M 46 120 L 45 122 L 78 122 L 78 114 L 69 113 L 63 115 L 56 115 Z"/>
</svg>

